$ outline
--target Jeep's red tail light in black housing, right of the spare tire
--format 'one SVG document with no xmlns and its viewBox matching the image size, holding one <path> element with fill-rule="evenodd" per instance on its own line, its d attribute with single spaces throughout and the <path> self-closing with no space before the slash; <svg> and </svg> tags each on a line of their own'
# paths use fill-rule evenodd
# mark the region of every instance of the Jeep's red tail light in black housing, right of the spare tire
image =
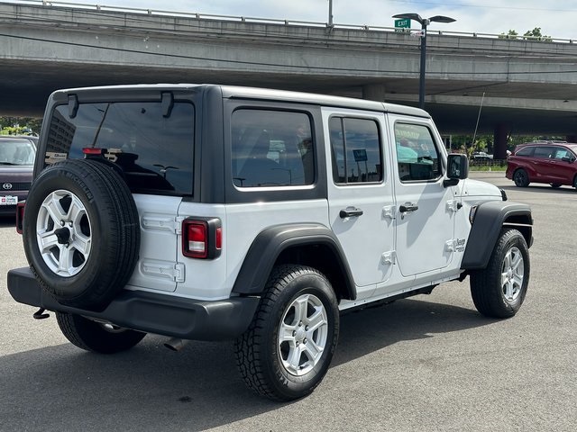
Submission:
<svg viewBox="0 0 577 432">
<path fill-rule="evenodd" d="M 214 259 L 223 248 L 223 228 L 218 218 L 188 218 L 182 221 L 182 255 Z"/>
</svg>

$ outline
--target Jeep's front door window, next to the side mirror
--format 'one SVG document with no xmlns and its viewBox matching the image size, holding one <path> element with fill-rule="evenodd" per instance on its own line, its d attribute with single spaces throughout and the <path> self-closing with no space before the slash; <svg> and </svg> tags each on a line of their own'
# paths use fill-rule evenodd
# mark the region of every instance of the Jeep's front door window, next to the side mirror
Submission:
<svg viewBox="0 0 577 432">
<path fill-rule="evenodd" d="M 426 126 L 396 123 L 395 143 L 401 181 L 432 180 L 442 174 L 435 139 Z"/>
</svg>

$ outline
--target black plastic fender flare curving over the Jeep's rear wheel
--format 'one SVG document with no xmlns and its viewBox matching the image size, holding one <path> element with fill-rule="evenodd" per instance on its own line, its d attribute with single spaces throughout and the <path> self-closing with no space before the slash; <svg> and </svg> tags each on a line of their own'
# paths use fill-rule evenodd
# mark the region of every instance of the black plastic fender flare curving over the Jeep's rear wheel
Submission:
<svg viewBox="0 0 577 432">
<path fill-rule="evenodd" d="M 356 299 L 356 287 L 351 268 L 344 256 L 334 232 L 318 223 L 291 223 L 276 225 L 262 230 L 252 241 L 243 266 L 234 282 L 233 293 L 260 295 L 264 291 L 272 267 L 279 255 L 292 247 L 323 246 L 334 258 L 334 266 L 339 266 L 343 275 L 344 297 Z M 307 263 L 303 263 L 307 264 Z"/>
</svg>

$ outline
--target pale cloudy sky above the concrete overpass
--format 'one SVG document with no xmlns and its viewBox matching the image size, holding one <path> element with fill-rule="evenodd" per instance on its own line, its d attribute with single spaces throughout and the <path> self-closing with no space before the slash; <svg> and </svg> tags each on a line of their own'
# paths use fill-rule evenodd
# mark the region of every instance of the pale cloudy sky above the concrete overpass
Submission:
<svg viewBox="0 0 577 432">
<path fill-rule="evenodd" d="M 58 4 L 59 2 L 54 2 Z M 62 3 L 198 14 L 234 15 L 289 21 L 327 23 L 329 0 L 67 0 Z M 394 14 L 416 13 L 423 18 L 450 16 L 454 23 L 432 23 L 431 31 L 519 34 L 541 28 L 555 39 L 577 40 L 577 0 L 333 0 L 336 24 L 393 27 Z M 413 28 L 420 28 L 413 23 Z"/>
</svg>

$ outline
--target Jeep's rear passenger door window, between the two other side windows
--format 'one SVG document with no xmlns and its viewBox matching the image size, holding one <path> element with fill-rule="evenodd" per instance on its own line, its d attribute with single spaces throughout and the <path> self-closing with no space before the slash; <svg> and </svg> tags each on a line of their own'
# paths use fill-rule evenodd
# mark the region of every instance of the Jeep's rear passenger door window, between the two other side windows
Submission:
<svg viewBox="0 0 577 432">
<path fill-rule="evenodd" d="M 382 180 L 382 154 L 376 121 L 332 117 L 329 133 L 334 183 L 374 183 Z"/>
</svg>

